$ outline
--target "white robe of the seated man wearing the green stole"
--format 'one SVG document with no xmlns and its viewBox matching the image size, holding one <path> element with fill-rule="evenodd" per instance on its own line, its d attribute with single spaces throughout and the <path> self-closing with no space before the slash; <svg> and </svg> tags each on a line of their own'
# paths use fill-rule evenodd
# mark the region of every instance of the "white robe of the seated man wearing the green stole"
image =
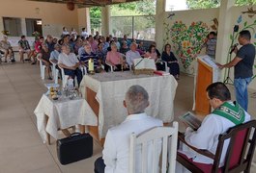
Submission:
<svg viewBox="0 0 256 173">
<path fill-rule="evenodd" d="M 229 104 L 231 107 L 235 107 L 235 104 L 231 101 L 225 104 Z M 244 111 L 243 117 L 243 123 L 250 120 L 250 115 L 246 111 Z M 186 129 L 185 141 L 198 149 L 209 150 L 214 154 L 218 143 L 218 136 L 225 133 L 229 128 L 234 127 L 235 125 L 236 124 L 230 119 L 215 114 L 213 111 L 211 114 L 204 118 L 200 128 L 197 131 L 193 131 L 191 128 Z M 224 145 L 222 150 L 220 166 L 224 163 L 227 144 L 228 143 Z M 189 159 L 192 158 L 192 160 L 195 162 L 213 163 L 212 159 L 194 152 L 193 150 L 185 147 L 185 145 L 182 145 L 182 148 L 179 150 L 179 152 L 185 154 Z"/>
</svg>

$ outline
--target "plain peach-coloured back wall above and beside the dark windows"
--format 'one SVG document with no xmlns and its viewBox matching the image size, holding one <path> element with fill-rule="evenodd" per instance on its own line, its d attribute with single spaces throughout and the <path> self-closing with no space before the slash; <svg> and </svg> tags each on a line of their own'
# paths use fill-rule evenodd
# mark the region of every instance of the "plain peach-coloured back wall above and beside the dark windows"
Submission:
<svg viewBox="0 0 256 173">
<path fill-rule="evenodd" d="M 27 0 L 9 0 L 1 2 L 0 16 L 24 18 L 41 18 L 43 20 L 43 36 L 51 34 L 59 37 L 62 27 L 68 30 L 74 27 L 78 30 L 77 9 L 69 11 L 65 4 L 32 2 Z M 80 17 L 82 19 L 82 17 Z M 83 24 L 82 22 L 80 22 Z M 80 26 L 79 26 L 80 27 Z M 0 21 L 0 31 L 4 30 L 3 21 Z M 22 30 L 26 35 L 25 30 Z"/>
</svg>

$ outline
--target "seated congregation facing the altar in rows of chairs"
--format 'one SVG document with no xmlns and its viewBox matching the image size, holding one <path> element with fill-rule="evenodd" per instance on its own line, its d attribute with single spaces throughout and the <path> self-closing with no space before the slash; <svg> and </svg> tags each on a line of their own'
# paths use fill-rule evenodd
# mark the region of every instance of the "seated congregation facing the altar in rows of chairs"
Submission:
<svg viewBox="0 0 256 173">
<path fill-rule="evenodd" d="M 10 61 L 14 60 L 14 50 L 7 36 L 3 37 L 0 47 L 5 62 L 8 57 Z M 100 73 L 108 72 L 111 68 L 113 71 L 129 70 L 133 60 L 137 58 L 153 59 L 156 62 L 157 70 L 165 70 L 164 62 L 162 62 L 165 61 L 170 73 L 179 79 L 179 63 L 171 52 L 170 44 L 168 47 L 168 51 L 164 49 L 161 55 L 156 49 L 155 42 L 152 42 L 149 47 L 144 47 L 143 41 L 137 44 L 135 39 L 131 41 L 126 35 L 119 41 L 117 37 L 111 35 L 100 36 L 99 32 L 96 32 L 95 36 L 89 35 L 85 28 L 82 28 L 81 34 L 78 35 L 75 29 L 72 28 L 69 32 L 66 27 L 63 27 L 60 38 L 51 35 L 47 35 L 46 38 L 36 36 L 33 45 L 29 44 L 26 36 L 21 36 L 18 41 L 19 61 L 31 61 L 31 64 L 36 64 L 41 60 L 46 66 L 48 80 L 52 80 L 50 66 L 57 63 L 56 68 L 64 68 L 65 75 L 69 75 L 71 78 L 77 76 L 78 79 L 81 79 L 82 74 L 89 72 L 88 61 L 90 59 L 94 62 L 95 72 Z M 68 52 L 64 53 L 64 49 L 67 49 Z M 24 59 L 24 54 L 27 54 L 26 59 Z M 65 61 L 59 61 L 61 57 L 69 57 L 69 59 L 64 58 Z M 176 67 L 171 68 L 173 65 Z M 81 69 L 86 70 L 82 73 Z M 79 82 L 80 80 L 78 80 L 78 84 Z"/>
</svg>

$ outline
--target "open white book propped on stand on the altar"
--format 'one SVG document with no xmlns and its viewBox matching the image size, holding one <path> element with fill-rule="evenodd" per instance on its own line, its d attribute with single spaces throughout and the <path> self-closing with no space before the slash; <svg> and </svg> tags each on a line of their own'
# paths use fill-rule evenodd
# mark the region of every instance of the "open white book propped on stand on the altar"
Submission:
<svg viewBox="0 0 256 173">
<path fill-rule="evenodd" d="M 156 70 L 156 63 L 153 59 L 134 59 L 134 69 L 153 69 Z"/>
</svg>

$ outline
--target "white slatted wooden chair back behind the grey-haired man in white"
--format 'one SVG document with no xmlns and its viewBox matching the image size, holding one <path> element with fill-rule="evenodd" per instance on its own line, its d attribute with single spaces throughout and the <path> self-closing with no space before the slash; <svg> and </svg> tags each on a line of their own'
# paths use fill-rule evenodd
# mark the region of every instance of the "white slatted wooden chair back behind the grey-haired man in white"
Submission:
<svg viewBox="0 0 256 173">
<path fill-rule="evenodd" d="M 129 173 L 135 173 L 135 156 L 141 152 L 141 168 L 142 173 L 158 172 L 159 162 L 161 173 L 175 172 L 176 152 L 178 140 L 178 122 L 173 123 L 173 127 L 155 127 L 140 135 L 130 135 L 129 148 Z M 149 144 L 150 143 L 150 144 Z M 159 153 L 157 153 L 157 146 L 161 146 L 161 160 L 159 160 Z M 153 147 L 153 148 L 152 148 Z M 149 156 L 153 156 L 152 158 Z M 148 162 L 151 159 L 152 162 Z M 167 161 L 168 160 L 168 161 Z M 151 170 L 147 170 L 148 165 L 152 166 Z"/>
</svg>

